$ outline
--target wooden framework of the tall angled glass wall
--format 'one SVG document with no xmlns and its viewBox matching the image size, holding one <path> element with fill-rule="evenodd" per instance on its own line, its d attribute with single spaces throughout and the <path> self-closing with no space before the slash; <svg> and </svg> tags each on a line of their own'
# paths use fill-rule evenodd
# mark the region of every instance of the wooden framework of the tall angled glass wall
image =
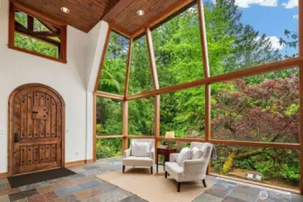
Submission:
<svg viewBox="0 0 303 202">
<path fill-rule="evenodd" d="M 150 36 L 150 29 L 155 28 L 158 24 L 161 24 L 162 22 L 167 21 L 167 19 L 174 17 L 175 13 L 180 12 L 184 7 L 192 4 L 192 3 L 198 4 L 198 14 L 199 14 L 199 25 L 200 25 L 200 34 L 201 34 L 201 50 L 202 50 L 202 63 L 203 63 L 203 73 L 205 77 L 203 79 L 199 79 L 196 81 L 188 82 L 188 83 L 181 83 L 174 86 L 168 86 L 164 88 L 158 87 L 158 78 L 156 75 L 156 63 L 155 63 L 155 53 L 153 50 L 153 42 Z M 273 147 L 273 148 L 281 148 L 281 149 L 296 149 L 299 150 L 300 156 L 300 186 L 299 190 L 296 189 L 284 189 L 281 187 L 273 187 L 271 185 L 266 185 L 258 182 L 252 182 L 248 180 L 239 180 L 235 178 L 230 178 L 227 176 L 218 175 L 215 173 L 209 173 L 210 171 L 210 163 L 209 163 L 209 169 L 208 174 L 213 176 L 219 176 L 221 178 L 227 178 L 232 180 L 238 180 L 238 181 L 245 181 L 250 184 L 255 184 L 263 187 L 269 187 L 274 189 L 281 189 L 281 190 L 287 190 L 294 193 L 299 193 L 303 195 L 303 1 L 299 1 L 299 57 L 294 57 L 278 62 L 272 62 L 266 65 L 261 66 L 254 66 L 242 70 L 238 70 L 236 72 L 230 72 L 224 75 L 215 75 L 210 76 L 209 75 L 209 55 L 208 55 L 208 47 L 207 47 L 207 41 L 206 41 L 206 30 L 205 30 L 205 15 L 204 15 L 204 9 L 203 9 L 203 2 L 202 0 L 184 0 L 181 1 L 179 4 L 176 4 L 173 9 L 170 9 L 168 11 L 165 11 L 161 16 L 156 17 L 151 22 L 147 22 L 146 28 L 141 29 L 139 31 L 136 31 L 134 33 L 129 33 L 127 31 L 122 30 L 120 27 L 117 27 L 117 25 L 110 23 L 110 27 L 108 30 L 108 36 L 105 40 L 105 45 L 102 53 L 102 60 L 100 64 L 99 74 L 96 80 L 96 85 L 99 82 L 101 71 L 102 71 L 102 65 L 103 60 L 105 57 L 106 49 L 109 42 L 109 34 L 111 31 L 117 31 L 121 33 L 124 36 L 127 36 L 129 39 L 134 40 L 138 39 L 143 34 L 147 35 L 147 48 L 149 53 L 149 61 L 150 66 L 152 70 L 152 76 L 153 76 L 153 83 L 154 83 L 154 90 L 149 92 L 140 92 L 132 95 L 127 95 L 127 93 L 124 94 L 124 96 L 111 94 L 108 92 L 100 92 L 97 91 L 97 88 L 94 89 L 94 109 L 96 109 L 96 101 L 95 98 L 97 96 L 106 97 L 110 99 L 120 100 L 123 101 L 123 103 L 127 103 L 128 101 L 141 99 L 141 98 L 147 98 L 151 96 L 155 96 L 155 136 L 132 136 L 129 135 L 127 132 L 127 129 L 124 129 L 123 131 L 123 150 L 128 148 L 128 138 L 151 138 L 155 139 L 155 147 L 157 146 L 158 142 L 160 140 L 167 140 L 164 136 L 159 136 L 160 133 L 160 95 L 168 92 L 177 92 L 185 89 L 190 89 L 193 87 L 200 87 L 205 86 L 205 139 L 199 138 L 199 139 L 191 139 L 191 138 L 172 138 L 169 140 L 172 141 L 178 141 L 178 142 L 208 142 L 212 144 L 219 144 L 219 145 L 236 145 L 236 146 L 250 146 L 250 147 Z M 131 48 L 129 48 L 131 50 Z M 130 53 L 129 53 L 130 54 Z M 129 59 L 129 58 L 128 58 Z M 266 142 L 247 142 L 247 141 L 233 141 L 233 140 L 216 140 L 211 139 L 211 125 L 210 125 L 210 85 L 212 83 L 220 83 L 225 81 L 234 80 L 237 78 L 252 76 L 252 75 L 262 75 L 269 72 L 275 72 L 282 69 L 289 69 L 292 67 L 299 67 L 299 144 L 289 144 L 289 143 L 266 143 Z M 127 69 L 129 68 L 129 61 L 127 63 Z M 128 70 L 129 71 L 129 70 Z M 154 71 L 154 72 L 153 72 Z M 129 80 L 129 75 L 127 75 L 127 81 Z M 128 87 L 126 85 L 126 87 Z M 128 89 L 126 89 L 127 92 Z M 124 105 L 123 105 L 124 106 Z M 127 108 L 127 104 L 125 104 L 125 108 Z M 95 116 L 96 111 L 94 110 L 94 139 L 95 136 Z M 123 110 L 123 127 L 127 128 L 128 124 L 128 110 Z M 106 138 L 106 137 L 105 137 Z M 94 147 L 95 147 L 95 141 L 94 141 Z M 156 150 L 155 150 L 156 151 Z M 95 158 L 95 148 L 94 148 L 94 158 Z"/>
</svg>

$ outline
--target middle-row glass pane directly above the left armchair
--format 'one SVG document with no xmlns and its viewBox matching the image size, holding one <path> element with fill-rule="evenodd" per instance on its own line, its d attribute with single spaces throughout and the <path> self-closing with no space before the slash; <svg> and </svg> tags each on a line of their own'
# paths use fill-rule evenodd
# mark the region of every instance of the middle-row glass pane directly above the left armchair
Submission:
<svg viewBox="0 0 303 202">
<path fill-rule="evenodd" d="M 129 135 L 155 136 L 154 97 L 129 101 Z"/>
</svg>

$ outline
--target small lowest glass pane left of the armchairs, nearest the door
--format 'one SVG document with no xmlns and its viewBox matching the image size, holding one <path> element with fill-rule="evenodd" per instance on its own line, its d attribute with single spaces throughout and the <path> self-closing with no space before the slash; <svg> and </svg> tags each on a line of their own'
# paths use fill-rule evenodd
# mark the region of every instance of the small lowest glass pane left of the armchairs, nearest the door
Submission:
<svg viewBox="0 0 303 202">
<path fill-rule="evenodd" d="M 122 156 L 122 138 L 97 139 L 97 160 Z"/>
</svg>

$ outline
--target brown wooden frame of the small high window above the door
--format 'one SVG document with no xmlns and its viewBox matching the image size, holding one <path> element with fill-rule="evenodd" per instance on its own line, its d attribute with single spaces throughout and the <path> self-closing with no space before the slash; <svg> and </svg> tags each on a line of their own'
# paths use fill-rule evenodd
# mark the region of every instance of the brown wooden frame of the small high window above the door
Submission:
<svg viewBox="0 0 303 202">
<path fill-rule="evenodd" d="M 19 48 L 19 47 L 14 46 L 14 32 L 15 32 L 14 31 L 14 28 L 15 28 L 14 12 L 15 12 L 15 10 L 21 11 L 22 13 L 26 13 L 27 15 L 31 15 L 33 18 L 40 19 L 43 22 L 49 22 L 50 24 L 52 24 L 60 29 L 60 31 L 61 31 L 60 32 L 60 45 L 59 45 L 60 54 L 59 54 L 58 58 L 45 56 L 38 52 L 33 52 L 31 50 L 27 50 L 24 48 Z M 17 3 L 10 2 L 8 26 L 9 26 L 9 28 L 8 28 L 8 48 L 12 48 L 14 50 L 18 50 L 23 53 L 31 54 L 33 56 L 43 57 L 43 58 L 47 58 L 47 59 L 50 59 L 53 61 L 67 64 L 67 23 L 59 22 L 58 20 L 56 20 L 46 14 L 40 13 L 40 11 L 38 11 L 34 8 L 25 6 L 23 4 L 17 4 Z M 32 38 L 31 36 L 29 36 L 29 37 Z"/>
</svg>

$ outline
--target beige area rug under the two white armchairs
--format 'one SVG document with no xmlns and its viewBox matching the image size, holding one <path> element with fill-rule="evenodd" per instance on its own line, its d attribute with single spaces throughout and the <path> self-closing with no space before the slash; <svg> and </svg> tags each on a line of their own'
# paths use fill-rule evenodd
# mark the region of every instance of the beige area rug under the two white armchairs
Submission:
<svg viewBox="0 0 303 202">
<path fill-rule="evenodd" d="M 163 169 L 159 169 L 158 174 L 154 169 L 152 175 L 149 168 L 127 167 L 124 174 L 117 170 L 97 177 L 150 202 L 191 202 L 207 189 L 202 182 L 184 182 L 181 184 L 181 192 L 178 193 L 176 181 L 169 177 L 165 179 Z M 208 188 L 213 185 L 211 180 L 206 183 Z"/>
</svg>

